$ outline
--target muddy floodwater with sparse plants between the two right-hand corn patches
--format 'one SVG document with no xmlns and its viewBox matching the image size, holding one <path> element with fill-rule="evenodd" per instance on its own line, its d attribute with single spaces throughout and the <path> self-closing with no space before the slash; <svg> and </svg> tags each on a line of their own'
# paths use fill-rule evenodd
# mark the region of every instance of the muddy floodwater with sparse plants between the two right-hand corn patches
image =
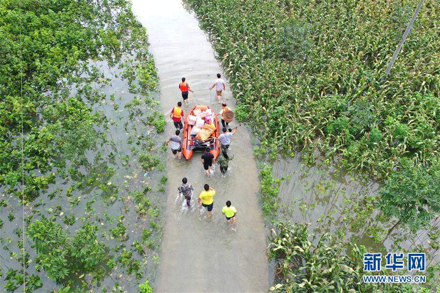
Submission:
<svg viewBox="0 0 440 293">
<path fill-rule="evenodd" d="M 272 173 L 274 178 L 281 179 L 279 218 L 308 223 L 310 231 L 337 235 L 345 242 L 364 245 L 368 251 L 386 253 L 395 251 L 399 246 L 406 250 L 424 247 L 430 255 L 430 262 L 439 261 L 439 251 L 429 246 L 429 230 L 421 229 L 413 233 L 396 229 L 385 239 L 374 239 L 372 228 L 375 228 L 375 224 L 372 224 L 372 218 L 376 216 L 378 207 L 373 207 L 375 210 L 371 217 L 359 220 L 359 225 L 354 225 L 352 217 L 356 218 L 356 204 L 365 197 L 378 196 L 379 184 L 321 164 L 306 166 L 299 154 L 294 158 L 278 159 L 273 164 Z M 379 221 L 385 234 L 395 223 L 395 219 Z M 431 225 L 438 226 L 438 219 L 433 219 Z"/>
</svg>

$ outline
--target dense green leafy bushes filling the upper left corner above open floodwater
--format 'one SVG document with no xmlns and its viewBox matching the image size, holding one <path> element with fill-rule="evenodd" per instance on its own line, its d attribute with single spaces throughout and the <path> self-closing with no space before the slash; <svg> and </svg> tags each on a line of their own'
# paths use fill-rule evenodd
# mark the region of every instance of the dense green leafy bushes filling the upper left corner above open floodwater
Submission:
<svg viewBox="0 0 440 293">
<path fill-rule="evenodd" d="M 117 11 L 114 17 L 104 7 Z M 22 52 L 20 40 L 14 37 L 20 25 L 19 1 L 1 2 L 0 27 L 6 42 L 0 46 L 4 56 L 0 91 L 7 94 L 0 103 L 0 184 L 9 186 L 8 192 L 21 193 L 17 186 L 21 182 L 23 114 L 24 193 L 30 201 L 54 182 L 53 169 L 65 164 L 56 156 L 81 157 L 100 135 L 92 126 L 101 123 L 102 117 L 91 113 L 81 94 L 95 102 L 100 95 L 85 85 L 68 97 L 68 85 L 102 79 L 96 68 L 85 63 L 88 60 L 117 63 L 124 52 L 132 52 L 147 40 L 124 1 L 62 0 L 38 5 L 21 1 L 21 11 Z M 131 38 L 137 39 L 134 47 Z M 42 175 L 37 176 L 37 170 Z"/>
</svg>

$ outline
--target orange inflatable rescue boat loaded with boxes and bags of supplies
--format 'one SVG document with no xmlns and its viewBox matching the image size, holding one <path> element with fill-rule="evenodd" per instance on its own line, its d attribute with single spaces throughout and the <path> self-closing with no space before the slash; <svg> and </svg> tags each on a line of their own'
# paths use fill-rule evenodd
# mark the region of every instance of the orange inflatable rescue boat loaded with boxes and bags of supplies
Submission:
<svg viewBox="0 0 440 293">
<path fill-rule="evenodd" d="M 183 156 L 189 160 L 193 151 L 204 152 L 209 147 L 216 160 L 220 154 L 220 144 L 214 138 L 219 135 L 219 121 L 214 111 L 207 105 L 192 107 L 183 126 Z"/>
</svg>

